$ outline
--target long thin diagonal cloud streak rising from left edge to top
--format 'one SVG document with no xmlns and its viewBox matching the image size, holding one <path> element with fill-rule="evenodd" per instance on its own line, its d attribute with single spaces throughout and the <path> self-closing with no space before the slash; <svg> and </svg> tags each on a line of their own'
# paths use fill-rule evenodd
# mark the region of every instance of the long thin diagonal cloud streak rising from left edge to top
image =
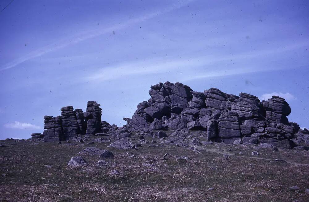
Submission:
<svg viewBox="0 0 309 202">
<path fill-rule="evenodd" d="M 6 65 L 4 65 L 0 69 L 0 71 L 10 69 L 10 68 L 15 67 L 15 66 L 17 66 L 17 65 L 19 65 L 19 64 L 21 64 L 21 63 L 23 63 L 23 62 L 25 62 L 29 59 L 36 58 L 36 57 L 39 57 L 39 56 L 44 55 L 46 53 L 59 50 L 59 49 L 64 48 L 66 46 L 70 46 L 70 45 L 76 44 L 78 42 L 97 37 L 97 36 L 102 35 L 102 34 L 111 33 L 112 31 L 124 29 L 126 27 L 137 24 L 139 22 L 143 22 L 143 21 L 146 21 L 148 19 L 159 16 L 161 14 L 168 13 L 172 10 L 179 9 L 183 6 L 188 5 L 190 2 L 193 2 L 193 1 L 194 0 L 190 0 L 190 1 L 186 1 L 186 2 L 181 2 L 177 5 L 168 6 L 167 8 L 165 8 L 163 10 L 158 10 L 158 11 L 152 12 L 150 14 L 140 16 L 138 18 L 133 18 L 129 21 L 126 21 L 126 23 L 123 23 L 123 24 L 116 24 L 114 26 L 107 27 L 107 28 L 101 27 L 100 29 L 95 29 L 95 30 L 91 30 L 91 31 L 85 31 L 85 32 L 78 33 L 78 34 L 76 34 L 76 35 L 74 35 L 74 36 L 72 36 L 68 39 L 59 40 L 59 42 L 57 42 L 57 43 L 53 43 L 52 45 L 44 46 L 44 47 L 42 47 L 42 48 L 40 48 L 36 51 L 32 51 L 29 54 L 24 55 L 23 57 L 20 57 L 20 58 L 12 61 L 10 63 L 7 63 Z"/>
</svg>

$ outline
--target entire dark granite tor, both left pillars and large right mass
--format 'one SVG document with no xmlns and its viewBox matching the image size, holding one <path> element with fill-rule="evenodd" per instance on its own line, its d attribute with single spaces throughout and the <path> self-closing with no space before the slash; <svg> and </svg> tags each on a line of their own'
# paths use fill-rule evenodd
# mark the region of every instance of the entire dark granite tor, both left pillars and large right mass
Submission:
<svg viewBox="0 0 309 202">
<path fill-rule="evenodd" d="M 288 121 L 291 108 L 281 97 L 260 101 L 247 93 L 237 96 L 217 88 L 197 92 L 168 81 L 150 88 L 150 99 L 137 105 L 132 119 L 123 118 L 127 122 L 123 127 L 101 121 L 100 105 L 88 101 L 86 112 L 68 106 L 61 109 L 61 116 L 44 116 L 44 140 L 111 135 L 119 140 L 111 147 L 133 148 L 127 140 L 131 132 L 165 138 L 162 132 L 153 131 L 175 130 L 175 139 L 185 138 L 188 131 L 201 131 L 211 142 L 282 148 L 309 145 L 309 131 Z"/>
</svg>

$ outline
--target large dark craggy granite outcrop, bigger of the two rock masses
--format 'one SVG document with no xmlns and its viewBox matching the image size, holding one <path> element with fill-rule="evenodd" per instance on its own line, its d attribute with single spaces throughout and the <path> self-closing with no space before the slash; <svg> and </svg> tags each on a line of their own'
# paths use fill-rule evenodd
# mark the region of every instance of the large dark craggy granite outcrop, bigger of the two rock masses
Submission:
<svg viewBox="0 0 309 202">
<path fill-rule="evenodd" d="M 138 104 L 132 119 L 125 118 L 129 130 L 203 130 L 211 141 L 284 148 L 309 141 L 307 131 L 288 121 L 290 106 L 278 96 L 261 102 L 247 93 L 236 96 L 217 88 L 202 93 L 168 81 L 150 88 L 148 102 Z"/>
</svg>

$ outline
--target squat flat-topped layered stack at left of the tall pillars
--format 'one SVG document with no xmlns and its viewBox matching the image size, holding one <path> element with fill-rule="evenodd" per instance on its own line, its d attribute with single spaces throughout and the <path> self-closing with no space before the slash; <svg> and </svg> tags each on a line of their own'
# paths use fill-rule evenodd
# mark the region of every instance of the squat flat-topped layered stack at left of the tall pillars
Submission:
<svg viewBox="0 0 309 202">
<path fill-rule="evenodd" d="M 46 142 L 63 140 L 62 121 L 60 116 L 44 116 L 43 137 Z"/>
</svg>

